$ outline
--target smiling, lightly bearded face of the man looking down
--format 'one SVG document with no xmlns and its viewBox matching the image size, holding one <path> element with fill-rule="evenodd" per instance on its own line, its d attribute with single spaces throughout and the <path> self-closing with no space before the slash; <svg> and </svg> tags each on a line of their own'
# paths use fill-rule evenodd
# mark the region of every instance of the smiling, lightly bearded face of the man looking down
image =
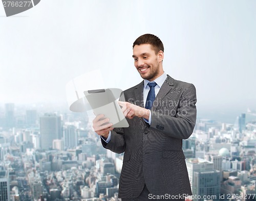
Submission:
<svg viewBox="0 0 256 201">
<path fill-rule="evenodd" d="M 133 48 L 134 65 L 141 78 L 153 81 L 163 74 L 163 52 L 156 52 L 151 44 L 135 45 Z"/>
</svg>

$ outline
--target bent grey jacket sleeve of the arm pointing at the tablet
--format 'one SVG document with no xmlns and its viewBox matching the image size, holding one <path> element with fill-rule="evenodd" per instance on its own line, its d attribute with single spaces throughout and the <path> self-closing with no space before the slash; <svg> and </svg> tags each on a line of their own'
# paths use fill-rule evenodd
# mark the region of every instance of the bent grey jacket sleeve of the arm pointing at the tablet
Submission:
<svg viewBox="0 0 256 201">
<path fill-rule="evenodd" d="M 176 114 L 168 114 L 164 107 L 151 113 L 151 128 L 156 129 L 170 137 L 187 139 L 193 133 L 196 124 L 196 88 L 187 84 L 181 94 Z"/>
</svg>

